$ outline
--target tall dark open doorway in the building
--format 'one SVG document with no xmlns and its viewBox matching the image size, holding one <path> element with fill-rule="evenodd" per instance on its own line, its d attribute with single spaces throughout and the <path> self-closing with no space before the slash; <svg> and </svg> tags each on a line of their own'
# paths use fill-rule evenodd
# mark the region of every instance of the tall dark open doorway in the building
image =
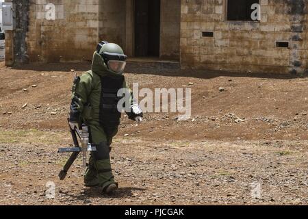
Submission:
<svg viewBox="0 0 308 219">
<path fill-rule="evenodd" d="M 159 57 L 160 0 L 135 0 L 135 56 Z"/>
</svg>

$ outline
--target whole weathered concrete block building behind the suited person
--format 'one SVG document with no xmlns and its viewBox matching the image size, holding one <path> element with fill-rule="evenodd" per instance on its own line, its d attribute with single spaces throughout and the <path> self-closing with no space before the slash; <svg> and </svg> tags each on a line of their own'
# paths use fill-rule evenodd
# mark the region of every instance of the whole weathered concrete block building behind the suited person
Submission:
<svg viewBox="0 0 308 219">
<path fill-rule="evenodd" d="M 8 0 L 5 0 L 8 1 Z M 129 57 L 252 73 L 308 68 L 307 0 L 19 0 L 6 64 L 90 60 L 100 40 Z M 251 5 L 259 3 L 259 12 Z"/>
</svg>

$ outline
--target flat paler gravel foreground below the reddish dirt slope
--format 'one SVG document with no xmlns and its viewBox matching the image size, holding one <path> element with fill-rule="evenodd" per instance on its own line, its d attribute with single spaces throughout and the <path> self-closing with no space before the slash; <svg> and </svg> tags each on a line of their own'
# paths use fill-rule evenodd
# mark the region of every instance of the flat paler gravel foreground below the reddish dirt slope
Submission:
<svg viewBox="0 0 308 219">
<path fill-rule="evenodd" d="M 64 181 L 57 146 L 1 144 L 2 205 L 307 205 L 308 142 L 116 138 L 113 196 L 85 188 L 81 158 Z M 12 159 L 14 157 L 14 159 Z M 55 183 L 50 199 L 47 182 Z"/>
</svg>

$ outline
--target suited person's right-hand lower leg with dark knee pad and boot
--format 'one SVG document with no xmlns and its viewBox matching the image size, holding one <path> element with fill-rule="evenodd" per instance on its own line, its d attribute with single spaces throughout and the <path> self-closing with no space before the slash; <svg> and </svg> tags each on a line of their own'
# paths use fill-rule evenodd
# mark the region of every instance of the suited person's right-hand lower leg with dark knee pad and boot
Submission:
<svg viewBox="0 0 308 219">
<path fill-rule="evenodd" d="M 118 183 L 114 181 L 114 175 L 112 175 L 109 144 L 107 142 L 97 144 L 97 151 L 93 154 L 99 186 L 103 189 L 103 192 L 110 194 L 118 188 Z"/>
</svg>

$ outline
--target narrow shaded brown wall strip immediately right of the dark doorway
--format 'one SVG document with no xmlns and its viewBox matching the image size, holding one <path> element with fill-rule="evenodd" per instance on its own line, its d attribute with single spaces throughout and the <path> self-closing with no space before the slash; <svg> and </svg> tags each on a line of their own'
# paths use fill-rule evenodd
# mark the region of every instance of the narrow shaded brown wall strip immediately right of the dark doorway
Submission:
<svg viewBox="0 0 308 219">
<path fill-rule="evenodd" d="M 160 57 L 179 60 L 181 0 L 161 0 Z"/>
</svg>

